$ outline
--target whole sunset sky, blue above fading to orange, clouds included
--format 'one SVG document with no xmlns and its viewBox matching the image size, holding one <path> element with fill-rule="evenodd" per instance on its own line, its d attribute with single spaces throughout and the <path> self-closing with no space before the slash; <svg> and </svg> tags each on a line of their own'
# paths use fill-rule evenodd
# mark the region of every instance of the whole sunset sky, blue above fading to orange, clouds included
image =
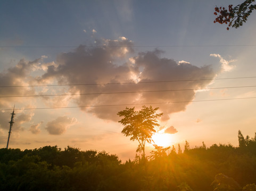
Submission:
<svg viewBox="0 0 256 191">
<path fill-rule="evenodd" d="M 215 6 L 241 2 L 1 1 L 0 146 L 14 104 L 21 150 L 134 159 L 117 112 L 143 105 L 163 112 L 155 143 L 176 150 L 254 136 L 256 12 L 238 29 L 213 23 Z"/>
</svg>

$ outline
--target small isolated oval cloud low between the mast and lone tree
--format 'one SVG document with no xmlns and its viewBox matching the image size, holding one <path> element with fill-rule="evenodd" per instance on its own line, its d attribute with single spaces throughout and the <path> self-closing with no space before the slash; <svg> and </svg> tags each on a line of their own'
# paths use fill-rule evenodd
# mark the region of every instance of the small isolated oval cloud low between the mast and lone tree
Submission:
<svg viewBox="0 0 256 191">
<path fill-rule="evenodd" d="M 65 131 L 67 131 L 67 129 L 70 126 L 75 125 L 76 122 L 77 122 L 76 118 L 61 116 L 52 121 L 49 121 L 46 124 L 46 130 L 51 135 L 61 135 Z"/>
</svg>

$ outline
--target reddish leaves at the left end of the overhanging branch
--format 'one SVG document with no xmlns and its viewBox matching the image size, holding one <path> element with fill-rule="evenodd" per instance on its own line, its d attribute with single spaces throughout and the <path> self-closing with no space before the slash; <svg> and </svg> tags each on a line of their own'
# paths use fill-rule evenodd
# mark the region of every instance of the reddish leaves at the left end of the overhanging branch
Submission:
<svg viewBox="0 0 256 191">
<path fill-rule="evenodd" d="M 231 19 L 230 12 L 232 12 L 233 10 L 232 6 L 233 5 L 228 5 L 228 10 L 226 10 L 225 7 L 215 7 L 216 12 L 214 12 L 214 15 L 218 15 L 219 13 L 219 16 L 213 22 L 214 23 L 218 22 L 220 24 L 229 23 Z M 230 27 L 230 24 L 228 24 L 228 27 Z M 228 27 L 227 27 L 227 30 L 229 30 Z"/>
</svg>

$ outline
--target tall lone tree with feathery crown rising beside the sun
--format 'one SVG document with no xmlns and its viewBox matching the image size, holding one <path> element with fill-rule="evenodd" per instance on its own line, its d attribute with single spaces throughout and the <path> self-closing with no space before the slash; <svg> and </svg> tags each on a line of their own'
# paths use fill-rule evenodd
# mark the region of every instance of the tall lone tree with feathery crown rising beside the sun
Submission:
<svg viewBox="0 0 256 191">
<path fill-rule="evenodd" d="M 142 106 L 142 109 L 135 111 L 135 107 L 128 108 L 119 111 L 118 115 L 123 117 L 119 123 L 125 126 L 122 129 L 122 133 L 125 136 L 131 136 L 131 141 L 138 141 L 139 145 L 136 152 L 142 152 L 142 156 L 145 159 L 145 144 L 152 142 L 152 135 L 156 132 L 154 127 L 159 126 L 156 118 L 162 114 L 156 114 L 155 112 L 159 108 L 152 108 Z"/>
</svg>

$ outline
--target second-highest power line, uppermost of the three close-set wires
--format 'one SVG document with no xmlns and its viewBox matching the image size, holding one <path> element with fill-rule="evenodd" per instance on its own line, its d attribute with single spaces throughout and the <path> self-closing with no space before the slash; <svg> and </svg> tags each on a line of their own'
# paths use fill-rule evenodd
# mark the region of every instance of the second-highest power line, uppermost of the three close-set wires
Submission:
<svg viewBox="0 0 256 191">
<path fill-rule="evenodd" d="M 41 86 L 78 86 L 78 85 L 115 85 L 115 84 L 143 84 L 143 83 L 165 83 L 165 82 L 188 82 L 188 81 L 207 81 L 207 80 L 230 80 L 230 79 L 251 79 L 249 77 L 226 77 L 219 79 L 194 79 L 194 80 L 170 80 L 170 81 L 151 81 L 151 82 L 119 82 L 119 83 L 85 83 L 85 84 L 53 84 L 53 85 L 2 85 L 0 88 L 21 88 L 21 87 L 41 87 Z"/>
</svg>

